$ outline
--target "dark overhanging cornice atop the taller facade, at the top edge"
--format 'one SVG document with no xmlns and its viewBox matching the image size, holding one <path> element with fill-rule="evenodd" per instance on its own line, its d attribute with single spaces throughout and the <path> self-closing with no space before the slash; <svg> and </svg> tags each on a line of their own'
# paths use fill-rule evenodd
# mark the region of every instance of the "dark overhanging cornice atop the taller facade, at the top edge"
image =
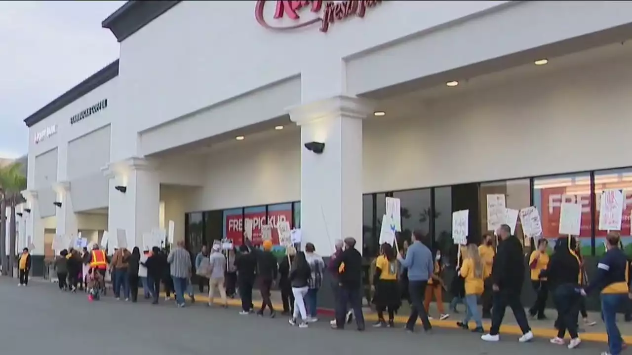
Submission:
<svg viewBox="0 0 632 355">
<path fill-rule="evenodd" d="M 163 13 L 176 6 L 175 0 L 130 0 L 101 22 L 122 42 Z"/>
</svg>

